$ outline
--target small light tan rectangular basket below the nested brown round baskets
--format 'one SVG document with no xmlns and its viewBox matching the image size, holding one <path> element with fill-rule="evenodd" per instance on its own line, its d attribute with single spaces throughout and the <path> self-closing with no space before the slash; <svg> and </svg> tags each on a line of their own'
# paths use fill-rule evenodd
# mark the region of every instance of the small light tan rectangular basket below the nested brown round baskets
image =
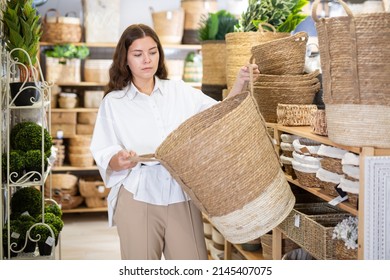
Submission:
<svg viewBox="0 0 390 280">
<path fill-rule="evenodd" d="M 316 105 L 278 104 L 277 122 L 285 126 L 308 126 L 312 123 L 315 111 Z"/>
</svg>

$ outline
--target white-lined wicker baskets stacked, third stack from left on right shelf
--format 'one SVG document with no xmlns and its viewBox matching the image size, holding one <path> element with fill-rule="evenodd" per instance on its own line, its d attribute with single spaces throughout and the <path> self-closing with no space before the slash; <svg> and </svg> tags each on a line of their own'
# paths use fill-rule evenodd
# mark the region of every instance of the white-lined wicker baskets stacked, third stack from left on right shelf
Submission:
<svg viewBox="0 0 390 280">
<path fill-rule="evenodd" d="M 321 168 L 317 171 L 317 178 L 319 179 L 319 186 L 323 192 L 337 197 L 339 192 L 337 186 L 340 180 L 344 177 L 341 159 L 347 153 L 346 150 L 336 147 L 321 144 L 317 154 L 322 157 Z"/>
</svg>

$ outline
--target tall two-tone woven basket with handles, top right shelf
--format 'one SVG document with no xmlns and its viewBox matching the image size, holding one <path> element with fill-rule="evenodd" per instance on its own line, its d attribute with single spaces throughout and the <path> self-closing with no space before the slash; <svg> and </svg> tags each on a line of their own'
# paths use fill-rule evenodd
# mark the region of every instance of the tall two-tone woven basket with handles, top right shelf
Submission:
<svg viewBox="0 0 390 280">
<path fill-rule="evenodd" d="M 328 137 L 349 146 L 390 148 L 390 14 L 317 17 Z"/>
</svg>

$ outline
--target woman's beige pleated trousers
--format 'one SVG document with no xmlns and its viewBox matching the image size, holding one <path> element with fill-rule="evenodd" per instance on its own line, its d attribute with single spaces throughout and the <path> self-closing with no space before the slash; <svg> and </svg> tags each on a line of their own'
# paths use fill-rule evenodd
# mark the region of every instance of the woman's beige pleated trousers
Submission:
<svg viewBox="0 0 390 280">
<path fill-rule="evenodd" d="M 114 221 L 123 260 L 207 260 L 202 215 L 192 202 L 148 204 L 122 186 Z"/>
</svg>

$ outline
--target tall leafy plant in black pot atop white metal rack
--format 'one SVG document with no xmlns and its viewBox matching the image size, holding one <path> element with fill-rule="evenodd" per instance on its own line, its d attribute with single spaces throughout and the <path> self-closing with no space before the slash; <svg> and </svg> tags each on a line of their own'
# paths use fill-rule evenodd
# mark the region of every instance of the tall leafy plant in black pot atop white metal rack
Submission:
<svg viewBox="0 0 390 280">
<path fill-rule="evenodd" d="M 33 0 L 9 0 L 3 9 L 4 42 L 19 69 L 19 82 L 10 83 L 11 96 L 17 106 L 38 101 L 40 84 L 36 70 L 39 40 L 42 35 L 40 16 Z"/>
</svg>

